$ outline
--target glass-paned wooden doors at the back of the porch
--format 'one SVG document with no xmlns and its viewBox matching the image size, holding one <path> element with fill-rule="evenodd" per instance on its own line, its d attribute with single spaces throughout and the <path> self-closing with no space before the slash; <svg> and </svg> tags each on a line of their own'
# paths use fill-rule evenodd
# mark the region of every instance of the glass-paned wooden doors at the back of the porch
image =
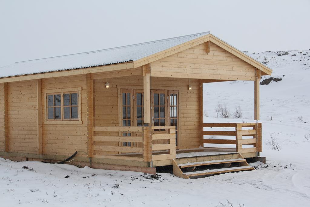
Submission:
<svg viewBox="0 0 310 207">
<path fill-rule="evenodd" d="M 143 90 L 121 89 L 122 126 L 148 126 L 144 124 Z M 175 144 L 179 146 L 179 94 L 177 90 L 151 91 L 152 126 L 175 126 Z M 166 129 L 155 129 L 154 133 L 167 133 Z M 137 136 L 123 132 L 122 136 Z M 122 146 L 134 143 L 123 142 Z"/>
</svg>

